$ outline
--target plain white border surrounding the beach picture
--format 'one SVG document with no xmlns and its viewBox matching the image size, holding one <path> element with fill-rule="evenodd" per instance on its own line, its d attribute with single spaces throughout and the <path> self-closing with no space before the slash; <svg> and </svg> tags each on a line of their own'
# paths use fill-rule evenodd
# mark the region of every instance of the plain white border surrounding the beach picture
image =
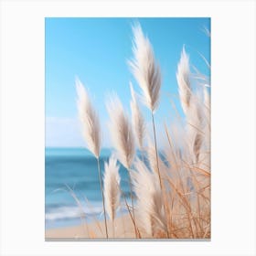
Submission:
<svg viewBox="0 0 256 256">
<path fill-rule="evenodd" d="M 1 255 L 255 255 L 254 1 L 0 3 Z M 45 16 L 211 17 L 211 241 L 45 241 Z"/>
</svg>

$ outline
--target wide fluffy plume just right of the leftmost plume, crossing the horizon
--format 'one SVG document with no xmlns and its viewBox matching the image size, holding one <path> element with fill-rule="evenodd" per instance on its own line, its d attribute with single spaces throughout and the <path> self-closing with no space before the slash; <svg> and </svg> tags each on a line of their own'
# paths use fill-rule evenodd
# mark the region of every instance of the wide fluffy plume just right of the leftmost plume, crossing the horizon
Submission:
<svg viewBox="0 0 256 256">
<path fill-rule="evenodd" d="M 112 143 L 117 151 L 118 159 L 128 169 L 133 163 L 135 154 L 132 124 L 127 114 L 123 112 L 123 105 L 116 95 L 113 95 L 107 102 L 107 109 L 111 118 L 109 127 Z"/>
</svg>

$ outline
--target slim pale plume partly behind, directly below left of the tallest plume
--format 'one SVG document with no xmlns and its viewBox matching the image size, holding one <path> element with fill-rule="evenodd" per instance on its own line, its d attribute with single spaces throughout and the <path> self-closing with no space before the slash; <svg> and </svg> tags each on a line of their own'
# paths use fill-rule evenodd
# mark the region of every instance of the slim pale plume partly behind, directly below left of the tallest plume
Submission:
<svg viewBox="0 0 256 256">
<path fill-rule="evenodd" d="M 133 91 L 132 83 L 130 83 L 130 89 L 132 94 L 131 110 L 132 110 L 133 130 L 136 134 L 139 148 L 142 150 L 144 147 L 144 133 L 145 133 L 144 117 L 138 106 L 135 92 Z"/>
</svg>

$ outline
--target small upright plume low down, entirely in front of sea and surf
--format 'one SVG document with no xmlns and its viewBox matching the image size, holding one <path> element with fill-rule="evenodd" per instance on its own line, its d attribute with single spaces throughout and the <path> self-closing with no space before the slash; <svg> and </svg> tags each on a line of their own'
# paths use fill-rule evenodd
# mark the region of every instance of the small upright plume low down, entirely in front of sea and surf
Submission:
<svg viewBox="0 0 256 256">
<path fill-rule="evenodd" d="M 109 163 L 105 163 L 104 174 L 104 197 L 106 211 L 113 221 L 115 219 L 116 209 L 120 204 L 120 176 L 118 173 L 119 165 L 117 165 L 117 159 L 112 155 L 109 159 Z"/>
</svg>

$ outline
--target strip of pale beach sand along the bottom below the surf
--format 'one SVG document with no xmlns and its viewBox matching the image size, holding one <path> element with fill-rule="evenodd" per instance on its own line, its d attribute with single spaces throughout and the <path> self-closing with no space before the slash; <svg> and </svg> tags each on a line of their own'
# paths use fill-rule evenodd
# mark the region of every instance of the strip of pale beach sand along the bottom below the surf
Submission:
<svg viewBox="0 0 256 256">
<path fill-rule="evenodd" d="M 129 215 L 124 215 L 114 221 L 114 232 L 112 221 L 107 221 L 109 238 L 135 239 L 133 221 Z M 82 223 L 80 226 L 59 229 L 46 229 L 46 240 L 55 239 L 104 239 L 104 221 L 94 221 L 90 224 Z"/>
</svg>

